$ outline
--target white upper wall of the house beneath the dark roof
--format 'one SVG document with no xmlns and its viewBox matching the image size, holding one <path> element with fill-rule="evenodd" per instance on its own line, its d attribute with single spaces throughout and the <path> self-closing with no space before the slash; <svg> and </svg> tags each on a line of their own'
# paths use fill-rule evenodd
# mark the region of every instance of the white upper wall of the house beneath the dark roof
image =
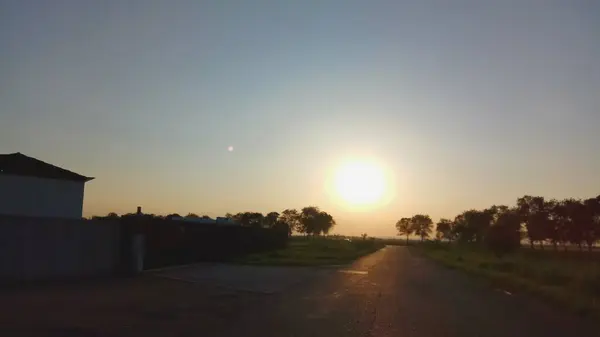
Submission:
<svg viewBox="0 0 600 337">
<path fill-rule="evenodd" d="M 0 174 L 0 214 L 81 218 L 84 182 Z"/>
</svg>

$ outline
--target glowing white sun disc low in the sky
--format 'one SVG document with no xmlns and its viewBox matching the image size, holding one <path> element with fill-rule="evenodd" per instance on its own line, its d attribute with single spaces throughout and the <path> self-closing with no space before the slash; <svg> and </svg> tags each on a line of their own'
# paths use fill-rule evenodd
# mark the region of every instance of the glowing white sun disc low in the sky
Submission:
<svg viewBox="0 0 600 337">
<path fill-rule="evenodd" d="M 386 192 L 383 169 L 375 163 L 351 162 L 335 173 L 336 193 L 352 206 L 368 206 L 379 203 Z"/>
</svg>

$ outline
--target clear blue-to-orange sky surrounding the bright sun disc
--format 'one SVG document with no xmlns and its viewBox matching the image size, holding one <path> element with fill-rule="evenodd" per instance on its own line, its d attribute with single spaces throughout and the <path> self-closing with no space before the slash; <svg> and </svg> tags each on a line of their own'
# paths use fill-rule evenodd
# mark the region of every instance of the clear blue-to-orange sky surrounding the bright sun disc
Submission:
<svg viewBox="0 0 600 337">
<path fill-rule="evenodd" d="M 87 215 L 319 205 L 349 234 L 599 194 L 600 6 L 450 2 L 0 1 L 0 153 L 97 177 Z M 339 207 L 349 156 L 395 198 Z"/>
</svg>

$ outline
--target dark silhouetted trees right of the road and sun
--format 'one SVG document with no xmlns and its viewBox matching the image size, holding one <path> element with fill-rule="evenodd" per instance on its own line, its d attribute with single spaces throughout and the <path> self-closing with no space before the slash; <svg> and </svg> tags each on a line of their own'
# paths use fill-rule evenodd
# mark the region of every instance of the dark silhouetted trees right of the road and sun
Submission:
<svg viewBox="0 0 600 337">
<path fill-rule="evenodd" d="M 421 240 L 432 234 L 433 222 L 427 215 L 402 218 L 396 223 L 399 235 L 415 234 Z M 509 207 L 494 205 L 483 210 L 468 210 L 454 219 L 442 218 L 436 224 L 436 238 L 448 242 L 485 244 L 505 252 L 527 239 L 531 248 L 550 244 L 567 249 L 592 250 L 600 241 L 600 195 L 589 199 L 545 199 L 525 195 Z"/>
</svg>

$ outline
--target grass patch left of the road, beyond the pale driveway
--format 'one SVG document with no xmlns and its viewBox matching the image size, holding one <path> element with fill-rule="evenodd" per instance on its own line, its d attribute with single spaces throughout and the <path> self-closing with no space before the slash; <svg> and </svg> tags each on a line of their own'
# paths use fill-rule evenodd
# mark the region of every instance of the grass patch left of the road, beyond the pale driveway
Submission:
<svg viewBox="0 0 600 337">
<path fill-rule="evenodd" d="M 293 237 L 285 249 L 251 254 L 234 263 L 254 265 L 319 266 L 349 263 L 381 249 L 383 243 L 371 239 L 330 239 Z"/>
</svg>

